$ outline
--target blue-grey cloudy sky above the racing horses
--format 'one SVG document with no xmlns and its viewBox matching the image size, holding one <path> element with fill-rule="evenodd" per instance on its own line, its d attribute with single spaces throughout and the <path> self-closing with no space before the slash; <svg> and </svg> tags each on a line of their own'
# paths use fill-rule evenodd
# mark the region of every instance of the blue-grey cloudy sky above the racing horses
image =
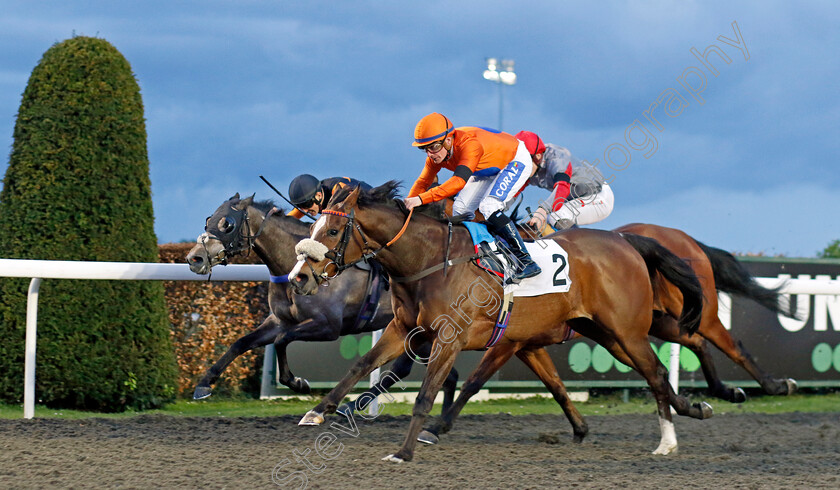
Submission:
<svg viewBox="0 0 840 490">
<path fill-rule="evenodd" d="M 141 87 L 160 242 L 194 239 L 236 192 L 273 197 L 259 175 L 283 190 L 302 172 L 410 186 L 420 117 L 499 125 L 499 86 L 481 76 L 491 56 L 515 60 L 518 75 L 503 88 L 502 129 L 536 131 L 613 176 L 602 227 L 651 222 L 731 251 L 804 257 L 840 238 L 836 2 L 0 7 L 0 171 L 42 54 L 74 34 L 104 38 Z M 712 44 L 729 60 L 709 52 L 716 76 L 691 53 Z M 702 104 L 680 78 L 702 88 Z M 669 93 L 685 103 L 674 117 L 654 108 L 660 130 L 645 111 Z M 526 203 L 541 197 L 529 190 Z"/>
</svg>

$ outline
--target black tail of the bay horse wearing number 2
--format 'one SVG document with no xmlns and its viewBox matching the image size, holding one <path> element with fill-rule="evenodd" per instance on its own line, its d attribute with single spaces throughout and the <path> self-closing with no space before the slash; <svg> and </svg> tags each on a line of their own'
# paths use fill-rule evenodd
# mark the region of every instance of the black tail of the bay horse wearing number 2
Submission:
<svg viewBox="0 0 840 490">
<path fill-rule="evenodd" d="M 633 233 L 621 233 L 621 236 L 644 258 L 652 284 L 655 273 L 659 272 L 680 290 L 683 295 L 680 327 L 684 328 L 689 335 L 696 332 L 700 328 L 700 316 L 703 314 L 703 287 L 697 280 L 694 270 L 653 238 Z"/>
</svg>

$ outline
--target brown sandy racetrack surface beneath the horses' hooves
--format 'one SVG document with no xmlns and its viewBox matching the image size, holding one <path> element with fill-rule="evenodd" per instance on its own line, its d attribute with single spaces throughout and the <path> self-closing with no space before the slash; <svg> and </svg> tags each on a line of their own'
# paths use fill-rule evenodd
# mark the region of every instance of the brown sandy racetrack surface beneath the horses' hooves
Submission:
<svg viewBox="0 0 840 490">
<path fill-rule="evenodd" d="M 277 488 L 272 475 L 298 488 L 304 474 L 309 488 L 840 488 L 840 413 L 675 418 L 680 448 L 669 456 L 650 454 L 654 414 L 589 416 L 582 444 L 562 414 L 468 415 L 403 464 L 380 458 L 397 450 L 408 417 L 357 416 L 356 437 L 330 426 L 346 427 L 343 417 L 298 420 L 0 420 L 0 488 Z"/>
</svg>

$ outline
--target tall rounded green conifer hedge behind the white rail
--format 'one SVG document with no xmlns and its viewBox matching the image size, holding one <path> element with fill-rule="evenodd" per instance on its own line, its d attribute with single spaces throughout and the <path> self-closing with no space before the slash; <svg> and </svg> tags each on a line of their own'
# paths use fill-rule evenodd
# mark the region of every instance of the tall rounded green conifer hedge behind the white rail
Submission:
<svg viewBox="0 0 840 490">
<path fill-rule="evenodd" d="M 32 72 L 0 191 L 0 256 L 157 262 L 140 88 L 103 39 L 55 44 Z M 0 278 L 0 398 L 23 392 L 28 279 Z M 176 370 L 163 286 L 46 279 L 36 397 L 121 411 L 172 399 Z"/>
</svg>

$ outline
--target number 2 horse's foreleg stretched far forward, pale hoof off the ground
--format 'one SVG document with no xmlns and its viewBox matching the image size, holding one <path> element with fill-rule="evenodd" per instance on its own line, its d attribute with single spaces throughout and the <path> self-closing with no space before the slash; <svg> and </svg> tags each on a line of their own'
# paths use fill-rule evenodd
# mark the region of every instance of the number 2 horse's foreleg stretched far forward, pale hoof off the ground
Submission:
<svg viewBox="0 0 840 490">
<path fill-rule="evenodd" d="M 324 422 L 324 415 L 335 412 L 338 403 L 356 386 L 364 376 L 386 362 L 395 359 L 405 350 L 402 330 L 395 326 L 395 321 L 385 328 L 378 342 L 362 356 L 344 378 L 338 382 L 315 408 L 303 416 L 298 425 L 320 425 Z"/>
</svg>

